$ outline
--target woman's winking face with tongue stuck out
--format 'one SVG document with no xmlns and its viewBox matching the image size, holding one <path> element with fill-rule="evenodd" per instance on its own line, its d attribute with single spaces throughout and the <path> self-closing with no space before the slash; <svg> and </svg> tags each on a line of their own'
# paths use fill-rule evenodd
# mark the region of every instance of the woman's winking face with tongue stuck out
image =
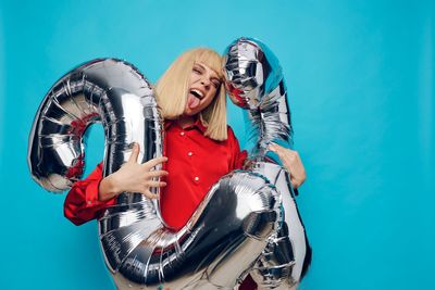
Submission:
<svg viewBox="0 0 435 290">
<path fill-rule="evenodd" d="M 213 101 L 221 79 L 216 72 L 203 63 L 195 63 L 190 73 L 187 103 L 184 114 L 194 116 L 204 110 Z"/>
</svg>

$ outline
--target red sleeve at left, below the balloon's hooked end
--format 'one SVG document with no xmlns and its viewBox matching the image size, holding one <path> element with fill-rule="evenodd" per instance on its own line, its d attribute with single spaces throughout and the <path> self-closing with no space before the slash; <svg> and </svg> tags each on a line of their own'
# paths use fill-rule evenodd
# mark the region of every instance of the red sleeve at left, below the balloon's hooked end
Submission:
<svg viewBox="0 0 435 290">
<path fill-rule="evenodd" d="M 63 204 L 63 213 L 73 224 L 78 226 L 97 218 L 102 209 L 115 203 L 115 199 L 105 202 L 98 200 L 101 180 L 102 163 L 86 179 L 75 182 L 71 188 Z"/>
</svg>

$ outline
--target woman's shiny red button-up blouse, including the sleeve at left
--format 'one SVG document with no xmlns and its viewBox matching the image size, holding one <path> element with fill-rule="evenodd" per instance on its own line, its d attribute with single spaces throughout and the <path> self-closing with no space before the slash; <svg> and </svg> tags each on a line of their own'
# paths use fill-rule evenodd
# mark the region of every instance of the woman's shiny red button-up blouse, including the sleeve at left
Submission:
<svg viewBox="0 0 435 290">
<path fill-rule="evenodd" d="M 161 190 L 161 212 L 164 222 L 182 228 L 199 203 L 223 175 L 240 168 L 246 151 L 240 152 L 238 141 L 228 126 L 228 138 L 214 141 L 203 134 L 206 127 L 200 121 L 187 128 L 165 121 L 163 155 L 169 172 L 167 186 Z M 115 199 L 98 201 L 98 187 L 102 179 L 102 164 L 84 180 L 74 184 L 64 203 L 65 217 L 75 225 L 84 224 L 100 216 L 102 210 L 113 205 Z"/>
</svg>

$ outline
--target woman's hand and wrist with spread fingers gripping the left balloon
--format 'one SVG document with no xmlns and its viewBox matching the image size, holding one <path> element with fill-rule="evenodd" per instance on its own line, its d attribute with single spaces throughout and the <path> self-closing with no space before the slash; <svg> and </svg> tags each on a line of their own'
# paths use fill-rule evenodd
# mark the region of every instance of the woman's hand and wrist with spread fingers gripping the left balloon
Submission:
<svg viewBox="0 0 435 290">
<path fill-rule="evenodd" d="M 149 199 L 157 199 L 157 194 L 150 191 L 152 187 L 164 187 L 166 182 L 157 181 L 160 177 L 167 175 L 165 171 L 152 171 L 152 168 L 167 157 L 152 159 L 144 164 L 137 163 L 139 155 L 139 144 L 135 143 L 132 155 L 117 172 L 107 176 L 101 180 L 98 199 L 100 201 L 110 200 L 121 192 L 140 192 Z"/>
</svg>

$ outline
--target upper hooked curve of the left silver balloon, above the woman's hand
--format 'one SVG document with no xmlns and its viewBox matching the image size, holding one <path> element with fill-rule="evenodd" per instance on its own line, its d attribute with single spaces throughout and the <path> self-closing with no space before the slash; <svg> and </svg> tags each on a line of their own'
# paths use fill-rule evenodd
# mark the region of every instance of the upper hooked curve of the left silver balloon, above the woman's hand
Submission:
<svg viewBox="0 0 435 290">
<path fill-rule="evenodd" d="M 130 64 L 95 60 L 59 79 L 39 106 L 29 136 L 33 178 L 57 192 L 78 180 L 85 166 L 83 136 L 97 122 L 107 136 L 104 175 L 128 160 L 133 142 L 140 146 L 140 163 L 161 156 L 161 122 L 150 84 Z"/>
</svg>

